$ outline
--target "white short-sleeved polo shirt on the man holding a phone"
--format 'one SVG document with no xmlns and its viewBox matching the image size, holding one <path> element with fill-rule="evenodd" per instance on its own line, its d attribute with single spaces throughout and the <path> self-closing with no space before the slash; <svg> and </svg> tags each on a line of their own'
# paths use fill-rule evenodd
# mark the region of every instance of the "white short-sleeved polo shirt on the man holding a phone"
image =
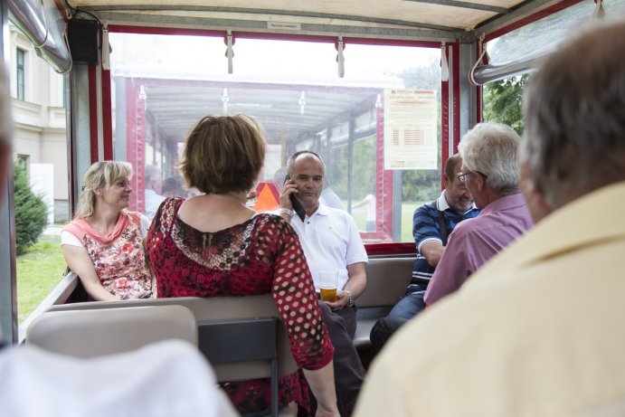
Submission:
<svg viewBox="0 0 625 417">
<path fill-rule="evenodd" d="M 338 289 L 343 289 L 349 280 L 347 265 L 369 261 L 349 213 L 319 204 L 317 212 L 307 215 L 304 222 L 293 216 L 290 224 L 298 233 L 317 291 L 319 270 L 337 270 Z"/>
</svg>

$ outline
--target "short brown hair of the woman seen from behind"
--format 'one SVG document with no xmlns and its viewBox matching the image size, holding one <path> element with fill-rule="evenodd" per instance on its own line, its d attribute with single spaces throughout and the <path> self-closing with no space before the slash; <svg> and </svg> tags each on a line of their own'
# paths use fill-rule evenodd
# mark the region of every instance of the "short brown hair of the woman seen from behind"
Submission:
<svg viewBox="0 0 625 417">
<path fill-rule="evenodd" d="M 206 116 L 186 137 L 180 171 L 206 194 L 248 191 L 265 162 L 265 137 L 251 116 Z"/>
</svg>

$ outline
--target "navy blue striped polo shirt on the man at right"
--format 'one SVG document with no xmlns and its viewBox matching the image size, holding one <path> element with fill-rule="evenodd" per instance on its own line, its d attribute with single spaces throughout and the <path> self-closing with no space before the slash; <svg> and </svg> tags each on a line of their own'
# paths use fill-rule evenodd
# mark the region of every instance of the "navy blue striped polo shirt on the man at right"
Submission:
<svg viewBox="0 0 625 417">
<path fill-rule="evenodd" d="M 442 212 L 445 217 L 447 235 L 449 236 L 458 223 L 476 217 L 479 214 L 479 209 L 475 205 L 471 205 L 465 213 L 457 213 L 451 209 L 450 204 L 447 204 L 445 191 L 443 191 L 436 201 L 430 204 L 423 204 L 414 211 L 412 216 L 412 236 L 417 246 L 417 259 L 412 265 L 412 281 L 406 290 L 407 294 L 425 289 L 434 273 L 434 267 L 431 267 L 425 257 L 421 255 L 421 247 L 426 242 L 443 244 L 440 233 L 439 212 Z"/>
</svg>

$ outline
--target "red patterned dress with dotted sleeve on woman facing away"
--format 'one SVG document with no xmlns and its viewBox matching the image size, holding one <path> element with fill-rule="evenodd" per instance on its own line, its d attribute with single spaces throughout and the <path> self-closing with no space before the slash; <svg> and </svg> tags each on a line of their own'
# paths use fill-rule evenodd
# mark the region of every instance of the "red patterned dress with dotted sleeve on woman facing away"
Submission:
<svg viewBox="0 0 625 417">
<path fill-rule="evenodd" d="M 271 294 L 300 367 L 315 370 L 334 355 L 297 234 L 273 214 L 220 232 L 200 232 L 178 219 L 184 200 L 168 198 L 147 232 L 147 256 L 158 297 Z M 269 379 L 223 384 L 239 412 L 270 408 Z M 279 403 L 308 410 L 308 387 L 298 372 L 280 377 Z"/>
</svg>

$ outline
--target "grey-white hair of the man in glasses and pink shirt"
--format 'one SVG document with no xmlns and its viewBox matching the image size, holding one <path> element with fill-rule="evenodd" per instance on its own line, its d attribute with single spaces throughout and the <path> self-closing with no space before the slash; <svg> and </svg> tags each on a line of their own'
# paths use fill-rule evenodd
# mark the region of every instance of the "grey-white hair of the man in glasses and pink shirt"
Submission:
<svg viewBox="0 0 625 417">
<path fill-rule="evenodd" d="M 497 194 L 518 192 L 521 137 L 501 123 L 478 123 L 460 140 L 462 165 L 487 177 Z"/>
</svg>

